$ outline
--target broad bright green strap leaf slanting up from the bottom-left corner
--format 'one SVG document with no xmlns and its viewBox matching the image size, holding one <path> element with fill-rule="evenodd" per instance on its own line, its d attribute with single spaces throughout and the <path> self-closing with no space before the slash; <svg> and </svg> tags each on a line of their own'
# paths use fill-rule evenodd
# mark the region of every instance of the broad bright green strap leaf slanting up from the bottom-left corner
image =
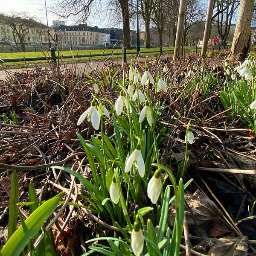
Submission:
<svg viewBox="0 0 256 256">
<path fill-rule="evenodd" d="M 49 199 L 36 209 L 29 218 L 26 219 L 25 224 L 20 226 L 15 233 L 7 241 L 6 245 L 0 252 L 0 256 L 18 256 L 23 248 L 29 242 L 29 239 L 34 237 L 38 230 L 41 229 L 44 221 L 54 212 L 58 206 L 63 192 L 55 197 Z"/>
</svg>

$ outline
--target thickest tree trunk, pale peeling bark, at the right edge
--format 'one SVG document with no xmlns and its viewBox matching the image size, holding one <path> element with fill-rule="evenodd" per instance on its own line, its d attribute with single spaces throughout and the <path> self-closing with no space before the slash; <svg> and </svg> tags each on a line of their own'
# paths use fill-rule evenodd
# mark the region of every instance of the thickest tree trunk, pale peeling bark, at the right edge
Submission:
<svg viewBox="0 0 256 256">
<path fill-rule="evenodd" d="M 250 50 L 250 25 L 253 17 L 254 0 L 241 0 L 232 42 L 230 63 L 244 61 Z"/>
</svg>

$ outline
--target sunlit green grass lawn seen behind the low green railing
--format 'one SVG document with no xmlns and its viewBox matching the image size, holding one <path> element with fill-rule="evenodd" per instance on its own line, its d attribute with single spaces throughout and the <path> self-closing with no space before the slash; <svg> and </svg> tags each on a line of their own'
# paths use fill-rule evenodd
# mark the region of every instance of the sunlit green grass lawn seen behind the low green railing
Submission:
<svg viewBox="0 0 256 256">
<path fill-rule="evenodd" d="M 195 47 L 187 47 L 189 49 L 191 48 L 195 48 Z M 159 52 L 159 48 L 151 48 L 151 49 L 145 49 L 142 48 L 141 49 L 141 53 L 140 56 L 142 57 L 146 57 L 146 56 L 153 56 L 154 54 L 160 54 Z M 166 55 L 166 54 L 172 54 L 174 50 L 174 47 L 163 47 L 162 49 L 162 54 Z M 148 52 L 150 51 L 150 52 Z M 111 54 L 112 49 L 107 49 L 104 51 L 104 53 L 109 53 Z M 121 53 L 122 50 L 121 49 L 114 49 L 113 50 L 113 58 L 121 58 L 121 55 L 116 55 L 116 53 Z M 136 49 L 131 49 L 131 50 L 127 50 L 127 53 L 129 52 L 136 52 Z M 145 52 L 145 53 L 143 53 Z M 67 56 L 67 55 L 93 55 L 93 54 L 102 54 L 103 50 L 79 50 L 79 51 L 60 51 L 59 55 L 63 55 L 63 56 Z M 56 55 L 58 53 L 56 52 Z M 6 58 L 30 58 L 30 57 L 44 57 L 45 56 L 50 56 L 50 52 L 9 52 L 9 53 L 0 53 L 0 59 L 6 59 Z M 127 58 L 134 58 L 136 54 L 127 54 Z M 93 60 L 99 60 L 101 57 L 99 56 L 95 56 L 95 57 L 86 57 L 86 58 L 78 58 L 78 61 L 88 61 L 89 59 L 93 59 Z M 108 58 L 108 56 L 103 56 L 102 59 L 106 59 Z M 72 61 L 72 58 L 67 58 L 64 59 L 64 61 Z M 47 61 L 29 61 L 29 63 L 24 63 L 24 61 L 19 61 L 19 62 L 8 62 L 8 63 L 2 63 L 0 64 L 0 68 L 11 68 L 11 67 L 27 67 L 33 63 L 47 63 Z"/>
</svg>

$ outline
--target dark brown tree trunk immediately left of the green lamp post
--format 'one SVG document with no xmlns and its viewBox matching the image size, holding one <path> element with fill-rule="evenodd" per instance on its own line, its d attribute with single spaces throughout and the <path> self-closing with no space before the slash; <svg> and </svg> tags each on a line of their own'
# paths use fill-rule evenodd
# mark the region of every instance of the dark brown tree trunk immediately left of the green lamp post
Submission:
<svg viewBox="0 0 256 256">
<path fill-rule="evenodd" d="M 123 19 L 123 47 L 125 47 L 126 49 L 131 49 L 128 0 L 119 0 L 119 3 L 122 9 Z"/>
</svg>

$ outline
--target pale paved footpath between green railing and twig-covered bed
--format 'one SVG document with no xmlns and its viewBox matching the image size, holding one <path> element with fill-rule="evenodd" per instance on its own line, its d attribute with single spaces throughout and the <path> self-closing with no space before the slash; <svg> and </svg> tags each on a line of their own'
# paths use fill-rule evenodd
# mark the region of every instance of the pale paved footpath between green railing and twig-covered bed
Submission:
<svg viewBox="0 0 256 256">
<path fill-rule="evenodd" d="M 146 61 L 148 58 L 142 57 L 139 61 Z M 134 58 L 133 58 L 134 60 Z M 127 63 L 130 63 L 131 59 L 127 59 Z M 88 61 L 84 63 L 65 63 L 61 64 L 61 69 L 70 68 L 73 72 L 76 73 L 91 73 L 93 70 L 97 69 L 100 70 L 104 67 L 114 67 L 116 65 L 121 65 L 122 60 L 121 58 L 113 59 L 113 60 L 104 60 L 104 61 Z M 39 64 L 36 64 L 39 66 Z M 44 66 L 42 66 L 44 69 Z M 0 79 L 6 79 L 8 76 L 13 75 L 18 72 L 22 71 L 31 71 L 33 68 L 15 68 L 15 69 L 5 69 L 3 66 L 0 66 Z"/>
</svg>

